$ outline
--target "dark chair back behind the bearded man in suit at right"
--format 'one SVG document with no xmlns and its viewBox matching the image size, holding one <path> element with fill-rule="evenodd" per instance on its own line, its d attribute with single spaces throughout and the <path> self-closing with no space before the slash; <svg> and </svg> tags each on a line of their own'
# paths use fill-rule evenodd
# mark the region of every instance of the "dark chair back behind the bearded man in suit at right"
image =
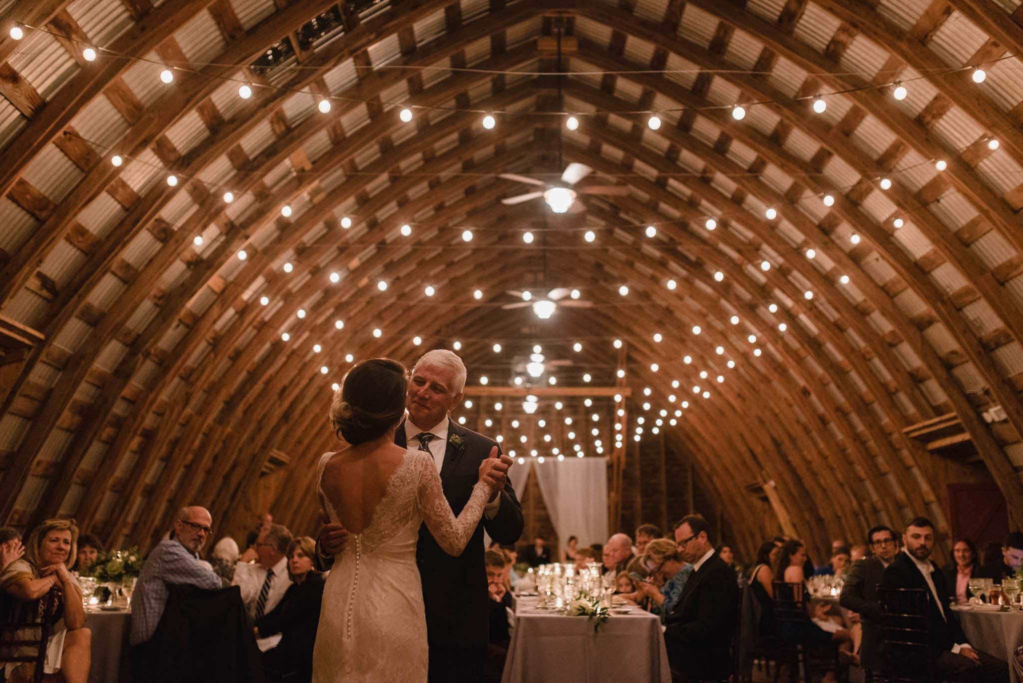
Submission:
<svg viewBox="0 0 1023 683">
<path fill-rule="evenodd" d="M 887 681 L 934 681 L 931 592 L 924 588 L 879 588 Z"/>
</svg>

